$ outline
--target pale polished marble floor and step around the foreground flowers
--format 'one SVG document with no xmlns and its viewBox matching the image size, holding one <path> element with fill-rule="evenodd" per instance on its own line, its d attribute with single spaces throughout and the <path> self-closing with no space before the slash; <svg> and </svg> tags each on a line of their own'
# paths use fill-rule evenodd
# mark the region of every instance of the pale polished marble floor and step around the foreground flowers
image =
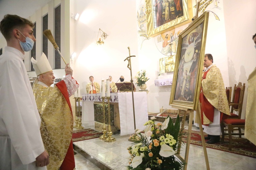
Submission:
<svg viewBox="0 0 256 170">
<path fill-rule="evenodd" d="M 93 122 L 82 125 L 85 128 L 94 129 Z M 187 127 L 188 124 L 185 124 L 185 129 Z M 199 131 L 199 128 L 193 126 L 192 130 Z M 74 142 L 75 152 L 77 152 L 75 155 L 76 170 L 125 170 L 129 157 L 127 147 L 131 146 L 132 142 L 128 141 L 129 135 L 120 136 L 119 134 L 112 137 L 116 138 L 115 142 L 107 143 L 98 138 Z M 255 158 L 210 148 L 207 148 L 207 154 L 211 170 L 256 169 Z M 180 155 L 185 156 L 185 146 L 182 147 Z M 200 146 L 190 145 L 187 170 L 202 169 L 206 169 L 203 149 Z"/>
</svg>

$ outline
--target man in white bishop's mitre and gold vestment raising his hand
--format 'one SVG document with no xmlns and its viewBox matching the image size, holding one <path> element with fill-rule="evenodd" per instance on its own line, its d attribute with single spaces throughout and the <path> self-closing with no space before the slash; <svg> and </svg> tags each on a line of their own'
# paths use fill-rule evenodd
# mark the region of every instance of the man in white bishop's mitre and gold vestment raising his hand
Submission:
<svg viewBox="0 0 256 170">
<path fill-rule="evenodd" d="M 33 92 L 41 117 L 41 136 L 50 155 L 48 169 L 73 170 L 75 159 L 72 143 L 73 116 L 69 97 L 78 89 L 79 84 L 72 77 L 73 70 L 67 64 L 66 76 L 54 87 L 54 73 L 44 53 L 32 57 L 31 62 L 37 79 Z"/>
</svg>

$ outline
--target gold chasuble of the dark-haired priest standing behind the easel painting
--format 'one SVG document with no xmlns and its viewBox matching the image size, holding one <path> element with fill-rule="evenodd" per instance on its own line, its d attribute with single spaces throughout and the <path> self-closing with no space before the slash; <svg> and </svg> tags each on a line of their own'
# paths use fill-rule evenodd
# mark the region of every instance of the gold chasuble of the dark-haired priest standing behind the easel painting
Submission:
<svg viewBox="0 0 256 170">
<path fill-rule="evenodd" d="M 224 114 L 231 115 L 221 71 L 216 65 L 212 65 L 209 68 L 206 78 L 201 82 L 201 86 L 203 95 L 212 106 Z M 209 124 L 209 122 L 209 119 L 203 115 L 203 124 Z"/>
</svg>

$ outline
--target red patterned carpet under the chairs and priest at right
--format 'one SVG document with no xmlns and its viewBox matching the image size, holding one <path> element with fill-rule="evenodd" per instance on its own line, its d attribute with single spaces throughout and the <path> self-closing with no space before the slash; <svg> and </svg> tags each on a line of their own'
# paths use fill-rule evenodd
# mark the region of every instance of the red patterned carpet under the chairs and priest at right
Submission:
<svg viewBox="0 0 256 170">
<path fill-rule="evenodd" d="M 184 130 L 184 132 L 187 133 L 187 130 Z M 204 133 L 204 136 L 207 136 L 207 134 Z M 222 135 L 221 135 L 221 138 L 222 138 Z M 237 138 L 237 137 L 233 137 L 233 139 L 235 139 L 235 138 Z M 182 136 L 182 140 L 184 142 L 186 142 L 187 135 Z M 200 132 L 192 130 L 190 144 L 202 146 Z M 217 150 L 221 150 L 221 151 L 225 151 L 225 152 L 230 152 L 230 153 L 235 153 L 235 154 L 239 154 L 239 155 L 243 155 L 243 156 L 249 156 L 252 158 L 256 158 L 256 146 L 251 142 L 248 143 L 246 141 L 235 141 L 232 144 L 232 151 L 229 151 L 228 136 L 225 136 L 224 143 L 219 142 L 216 144 L 207 144 L 207 143 L 205 143 L 205 144 L 206 144 L 207 148 L 217 149 Z"/>
</svg>

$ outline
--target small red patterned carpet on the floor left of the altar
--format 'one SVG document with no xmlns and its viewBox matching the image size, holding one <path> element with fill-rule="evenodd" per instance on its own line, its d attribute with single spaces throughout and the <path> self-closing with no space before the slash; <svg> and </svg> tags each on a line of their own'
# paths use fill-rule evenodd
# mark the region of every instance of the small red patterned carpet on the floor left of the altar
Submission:
<svg viewBox="0 0 256 170">
<path fill-rule="evenodd" d="M 98 138 L 102 135 L 102 132 L 93 130 L 93 129 L 81 129 L 81 130 L 74 130 L 72 135 L 72 141 L 77 142 L 81 140 L 88 140 Z"/>
</svg>

